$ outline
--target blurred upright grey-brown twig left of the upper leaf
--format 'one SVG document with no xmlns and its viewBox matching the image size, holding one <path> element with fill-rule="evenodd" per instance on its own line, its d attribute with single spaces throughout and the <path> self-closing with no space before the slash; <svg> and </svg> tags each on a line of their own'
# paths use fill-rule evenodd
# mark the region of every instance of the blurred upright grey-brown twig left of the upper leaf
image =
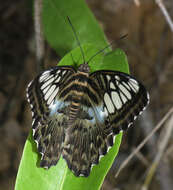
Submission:
<svg viewBox="0 0 173 190">
<path fill-rule="evenodd" d="M 42 30 L 42 0 L 34 1 L 34 27 L 36 39 L 37 71 L 44 69 L 44 38 Z"/>
</svg>

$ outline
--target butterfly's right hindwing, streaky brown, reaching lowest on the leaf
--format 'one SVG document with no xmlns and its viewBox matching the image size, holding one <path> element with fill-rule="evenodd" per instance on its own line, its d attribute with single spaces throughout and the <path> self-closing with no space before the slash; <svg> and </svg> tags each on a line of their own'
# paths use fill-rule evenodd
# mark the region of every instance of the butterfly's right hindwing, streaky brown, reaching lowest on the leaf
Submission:
<svg viewBox="0 0 173 190">
<path fill-rule="evenodd" d="M 94 115 L 82 118 L 83 112 L 86 115 L 88 112 L 81 109 L 78 119 L 66 130 L 62 155 L 76 176 L 87 177 L 91 167 L 98 164 L 101 155 L 113 145 L 111 129 L 97 120 L 95 111 L 92 111 Z"/>
</svg>

